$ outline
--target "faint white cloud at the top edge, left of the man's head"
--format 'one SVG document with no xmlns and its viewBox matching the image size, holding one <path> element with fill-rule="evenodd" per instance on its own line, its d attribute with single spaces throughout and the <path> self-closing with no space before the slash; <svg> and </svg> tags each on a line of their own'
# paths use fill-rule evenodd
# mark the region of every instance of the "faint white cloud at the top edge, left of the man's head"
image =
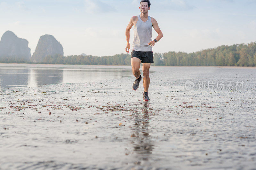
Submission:
<svg viewBox="0 0 256 170">
<path fill-rule="evenodd" d="M 100 0 L 85 0 L 85 10 L 87 13 L 108 13 L 116 11 L 116 9 Z"/>
</svg>

